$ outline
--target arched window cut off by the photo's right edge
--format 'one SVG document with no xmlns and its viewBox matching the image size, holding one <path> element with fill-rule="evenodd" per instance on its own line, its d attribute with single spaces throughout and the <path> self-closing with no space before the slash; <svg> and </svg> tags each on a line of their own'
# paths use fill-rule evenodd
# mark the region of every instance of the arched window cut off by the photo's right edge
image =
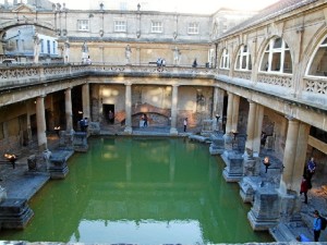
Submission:
<svg viewBox="0 0 327 245">
<path fill-rule="evenodd" d="M 327 76 L 327 37 L 312 56 L 306 75 Z"/>
</svg>

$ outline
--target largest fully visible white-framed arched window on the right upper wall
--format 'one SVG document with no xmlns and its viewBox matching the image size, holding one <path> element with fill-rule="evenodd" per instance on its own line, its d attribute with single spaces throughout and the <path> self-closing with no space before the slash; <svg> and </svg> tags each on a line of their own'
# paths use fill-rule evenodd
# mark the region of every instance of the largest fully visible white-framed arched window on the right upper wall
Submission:
<svg viewBox="0 0 327 245">
<path fill-rule="evenodd" d="M 263 54 L 259 71 L 292 73 L 292 58 L 289 46 L 280 37 L 270 39 Z"/>
</svg>

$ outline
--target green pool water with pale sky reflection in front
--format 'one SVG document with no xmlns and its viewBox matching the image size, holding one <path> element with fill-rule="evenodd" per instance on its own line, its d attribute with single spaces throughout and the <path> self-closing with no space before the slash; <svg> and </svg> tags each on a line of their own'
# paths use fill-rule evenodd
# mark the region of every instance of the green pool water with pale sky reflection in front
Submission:
<svg viewBox="0 0 327 245">
<path fill-rule="evenodd" d="M 64 180 L 29 203 L 35 216 L 1 240 L 129 244 L 272 242 L 254 232 L 238 184 L 208 145 L 171 138 L 90 138 Z"/>
</svg>

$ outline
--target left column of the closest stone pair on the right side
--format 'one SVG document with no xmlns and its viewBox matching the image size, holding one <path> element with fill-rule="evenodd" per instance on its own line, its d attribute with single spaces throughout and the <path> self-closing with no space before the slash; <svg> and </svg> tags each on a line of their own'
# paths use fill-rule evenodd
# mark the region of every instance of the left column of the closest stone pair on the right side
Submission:
<svg viewBox="0 0 327 245">
<path fill-rule="evenodd" d="M 292 117 L 287 117 L 289 120 L 288 133 L 283 154 L 283 172 L 280 180 L 279 191 L 281 194 L 287 194 L 292 187 L 292 179 L 294 171 L 294 160 L 296 156 L 296 145 L 299 136 L 299 121 Z"/>
</svg>

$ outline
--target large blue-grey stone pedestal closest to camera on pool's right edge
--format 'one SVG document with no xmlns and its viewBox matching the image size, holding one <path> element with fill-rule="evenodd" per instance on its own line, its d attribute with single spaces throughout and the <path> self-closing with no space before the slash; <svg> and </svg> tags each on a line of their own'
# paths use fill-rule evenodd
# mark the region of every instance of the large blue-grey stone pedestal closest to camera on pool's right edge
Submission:
<svg viewBox="0 0 327 245">
<path fill-rule="evenodd" d="M 279 196 L 274 187 L 259 187 L 255 192 L 254 205 L 247 213 L 254 231 L 267 231 L 279 221 Z"/>
</svg>

